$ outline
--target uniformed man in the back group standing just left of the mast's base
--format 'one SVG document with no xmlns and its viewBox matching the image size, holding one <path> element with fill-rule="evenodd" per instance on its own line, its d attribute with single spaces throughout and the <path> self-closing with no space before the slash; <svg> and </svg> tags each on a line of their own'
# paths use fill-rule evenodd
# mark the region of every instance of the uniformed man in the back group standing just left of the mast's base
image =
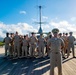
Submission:
<svg viewBox="0 0 76 75">
<path fill-rule="evenodd" d="M 32 36 L 29 38 L 29 44 L 30 44 L 30 55 L 31 57 L 33 57 L 35 55 L 37 37 L 35 36 L 34 32 L 32 32 L 31 34 Z"/>
</svg>

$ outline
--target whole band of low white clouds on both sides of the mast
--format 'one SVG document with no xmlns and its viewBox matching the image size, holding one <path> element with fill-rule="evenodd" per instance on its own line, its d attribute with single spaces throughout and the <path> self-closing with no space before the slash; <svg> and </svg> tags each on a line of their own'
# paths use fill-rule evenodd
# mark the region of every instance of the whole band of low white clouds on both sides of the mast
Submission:
<svg viewBox="0 0 76 75">
<path fill-rule="evenodd" d="M 37 32 L 39 25 L 35 28 L 32 25 L 27 23 L 17 23 L 17 24 L 4 24 L 0 22 L 0 37 L 5 37 L 6 32 L 16 32 L 18 31 L 19 34 L 24 35 L 29 32 Z M 53 28 L 58 28 L 60 32 L 74 32 L 74 36 L 76 36 L 76 24 L 71 24 L 70 22 L 63 20 L 63 21 L 50 21 L 49 24 L 43 24 L 42 29 L 43 32 L 49 32 Z"/>
</svg>

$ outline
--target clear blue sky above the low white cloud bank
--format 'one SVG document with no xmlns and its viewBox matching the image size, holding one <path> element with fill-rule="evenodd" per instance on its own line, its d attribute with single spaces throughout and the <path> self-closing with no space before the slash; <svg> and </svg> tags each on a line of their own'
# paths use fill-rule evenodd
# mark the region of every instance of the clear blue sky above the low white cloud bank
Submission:
<svg viewBox="0 0 76 75">
<path fill-rule="evenodd" d="M 55 17 L 69 19 L 76 16 L 73 4 L 76 0 L 0 0 L 0 21 L 11 24 L 18 22 L 31 22 L 38 17 L 37 5 L 42 5 L 42 14 L 49 20 Z M 76 6 L 76 5 L 75 5 Z M 20 14 L 26 11 L 26 15 Z"/>
</svg>

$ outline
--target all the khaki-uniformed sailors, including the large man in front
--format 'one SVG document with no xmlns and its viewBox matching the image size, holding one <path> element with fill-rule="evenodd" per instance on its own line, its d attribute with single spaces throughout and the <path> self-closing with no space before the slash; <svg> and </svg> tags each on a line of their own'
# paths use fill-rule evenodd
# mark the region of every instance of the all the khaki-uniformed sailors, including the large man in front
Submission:
<svg viewBox="0 0 76 75">
<path fill-rule="evenodd" d="M 30 37 L 28 35 L 21 36 L 16 32 L 15 34 L 6 33 L 4 38 L 5 42 L 5 56 L 10 58 L 22 58 L 22 57 L 50 57 L 50 75 L 54 75 L 54 68 L 57 65 L 58 75 L 62 75 L 62 57 L 68 58 L 70 51 L 73 58 L 75 58 L 74 41 L 75 37 L 73 32 L 59 33 L 59 29 L 52 30 L 47 37 L 37 38 L 34 33 Z"/>
</svg>

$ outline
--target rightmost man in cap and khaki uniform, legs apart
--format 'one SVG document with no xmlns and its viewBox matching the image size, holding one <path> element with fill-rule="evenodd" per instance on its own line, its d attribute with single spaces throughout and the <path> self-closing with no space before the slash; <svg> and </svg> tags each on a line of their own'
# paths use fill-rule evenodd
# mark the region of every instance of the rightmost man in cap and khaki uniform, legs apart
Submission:
<svg viewBox="0 0 76 75">
<path fill-rule="evenodd" d="M 70 55 L 70 49 L 72 48 L 72 53 L 73 53 L 73 58 L 75 58 L 75 52 L 74 52 L 74 41 L 75 41 L 75 37 L 72 36 L 73 32 L 69 33 L 69 37 L 68 37 L 68 51 L 67 51 L 67 57 L 69 57 Z"/>
</svg>

